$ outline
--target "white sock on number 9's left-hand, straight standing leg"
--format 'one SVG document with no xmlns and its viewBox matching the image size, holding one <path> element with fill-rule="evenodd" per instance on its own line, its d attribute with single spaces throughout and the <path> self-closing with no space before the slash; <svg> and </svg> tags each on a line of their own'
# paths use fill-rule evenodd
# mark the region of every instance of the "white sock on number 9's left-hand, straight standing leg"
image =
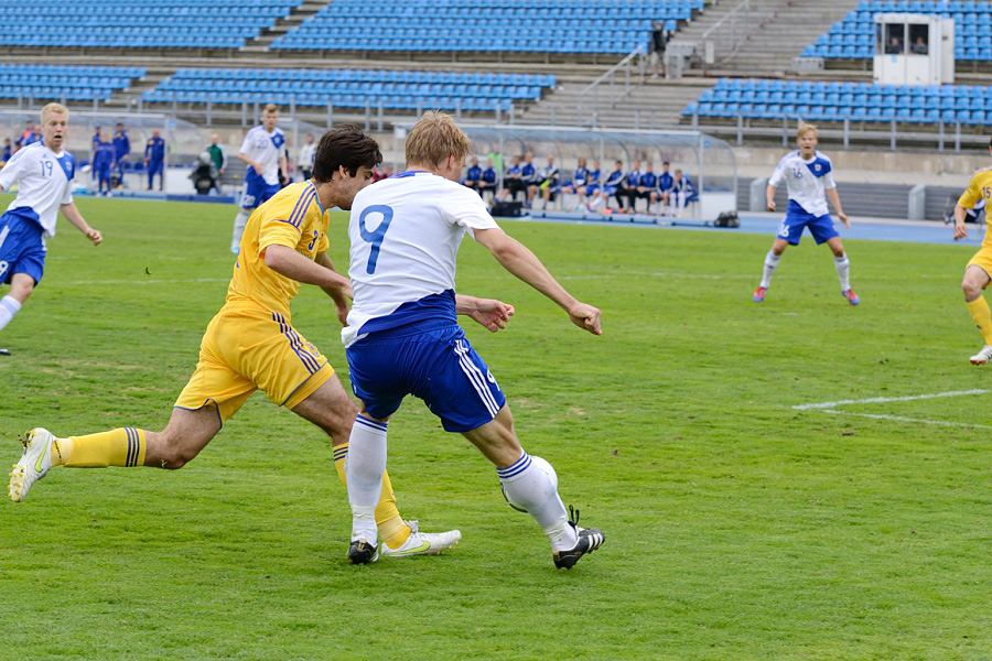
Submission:
<svg viewBox="0 0 992 661">
<path fill-rule="evenodd" d="M 348 502 L 352 505 L 352 541 L 376 543 L 376 505 L 382 491 L 386 472 L 386 431 L 388 423 L 376 422 L 360 413 L 355 418 L 345 466 Z"/>
</svg>

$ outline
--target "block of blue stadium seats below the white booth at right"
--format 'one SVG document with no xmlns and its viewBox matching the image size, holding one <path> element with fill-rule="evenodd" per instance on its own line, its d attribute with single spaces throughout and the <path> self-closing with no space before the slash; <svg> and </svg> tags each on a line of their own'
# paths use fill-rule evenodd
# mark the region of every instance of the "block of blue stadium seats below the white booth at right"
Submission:
<svg viewBox="0 0 992 661">
<path fill-rule="evenodd" d="M 977 85 L 722 79 L 689 104 L 682 116 L 982 124 L 989 106 L 992 87 Z"/>
</svg>

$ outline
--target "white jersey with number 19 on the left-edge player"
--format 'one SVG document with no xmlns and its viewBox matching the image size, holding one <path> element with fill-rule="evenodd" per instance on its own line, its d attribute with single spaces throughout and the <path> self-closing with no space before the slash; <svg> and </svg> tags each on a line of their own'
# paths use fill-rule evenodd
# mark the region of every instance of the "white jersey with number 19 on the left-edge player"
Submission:
<svg viewBox="0 0 992 661">
<path fill-rule="evenodd" d="M 45 236 L 54 237 L 58 207 L 73 202 L 75 170 L 76 161 L 71 153 L 53 152 L 44 142 L 32 142 L 18 150 L 0 170 L 0 186 L 4 191 L 18 184 L 18 195 L 7 209 L 32 209 Z"/>
</svg>

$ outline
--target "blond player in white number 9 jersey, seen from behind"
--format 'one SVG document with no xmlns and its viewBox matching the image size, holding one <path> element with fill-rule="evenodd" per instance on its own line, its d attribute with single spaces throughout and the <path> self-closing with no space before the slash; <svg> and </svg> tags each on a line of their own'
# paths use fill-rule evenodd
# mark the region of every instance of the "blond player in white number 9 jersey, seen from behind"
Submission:
<svg viewBox="0 0 992 661">
<path fill-rule="evenodd" d="M 360 191 L 348 224 L 354 302 L 342 330 L 352 389 L 362 410 L 347 465 L 352 503 L 348 559 L 377 552 L 373 517 L 386 468 L 389 418 L 407 394 L 421 398 L 445 431 L 459 432 L 495 464 L 507 500 L 520 505 L 551 541 L 553 561 L 571 568 L 604 535 L 576 525 L 552 477 L 531 462 L 514 432 L 506 398 L 455 321 L 467 314 L 496 332 L 513 307 L 454 292 L 455 256 L 465 232 L 510 273 L 601 335 L 600 311 L 578 301 L 535 254 L 506 236 L 482 199 L 457 184 L 471 150 L 449 115 L 427 112 L 407 137 L 407 170 Z"/>
</svg>

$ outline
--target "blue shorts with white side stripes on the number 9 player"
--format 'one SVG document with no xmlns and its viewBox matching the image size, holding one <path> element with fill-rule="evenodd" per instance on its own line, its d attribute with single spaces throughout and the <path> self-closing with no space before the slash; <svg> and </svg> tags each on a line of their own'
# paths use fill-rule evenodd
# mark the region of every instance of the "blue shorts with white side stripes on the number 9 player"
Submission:
<svg viewBox="0 0 992 661">
<path fill-rule="evenodd" d="M 352 390 L 379 420 L 413 394 L 441 419 L 444 431 L 468 432 L 492 421 L 506 404 L 465 332 L 450 321 L 371 333 L 345 349 L 345 356 Z"/>
</svg>

